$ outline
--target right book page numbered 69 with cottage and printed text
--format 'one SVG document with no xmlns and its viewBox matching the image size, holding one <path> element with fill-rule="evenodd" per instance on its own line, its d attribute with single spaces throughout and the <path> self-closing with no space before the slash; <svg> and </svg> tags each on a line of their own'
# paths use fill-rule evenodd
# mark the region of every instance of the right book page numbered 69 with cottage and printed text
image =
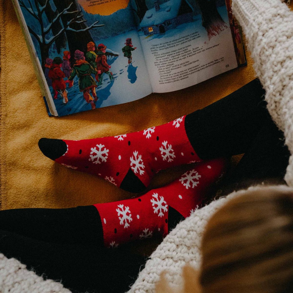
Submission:
<svg viewBox="0 0 293 293">
<path fill-rule="evenodd" d="M 225 0 L 143 1 L 136 21 L 154 92 L 180 90 L 238 66 Z M 143 9 L 138 0 L 132 6 Z"/>
</svg>

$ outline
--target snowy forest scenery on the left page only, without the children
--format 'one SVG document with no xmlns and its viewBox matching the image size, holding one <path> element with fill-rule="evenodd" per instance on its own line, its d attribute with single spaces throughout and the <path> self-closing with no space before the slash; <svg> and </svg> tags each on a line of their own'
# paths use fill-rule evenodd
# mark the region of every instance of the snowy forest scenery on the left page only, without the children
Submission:
<svg viewBox="0 0 293 293">
<path fill-rule="evenodd" d="M 74 52 L 79 50 L 86 54 L 88 43 L 93 42 L 95 49 L 99 44 L 107 47 L 105 55 L 113 74 L 113 79 L 103 74 L 100 81 L 102 84 L 99 85 L 97 82 L 96 108 L 130 102 L 151 92 L 142 50 L 133 53 L 131 64 L 128 64 L 128 59 L 123 56 L 121 50 L 127 38 L 132 39 L 133 47 L 141 48 L 133 21 L 133 12 L 130 9 L 120 9 L 109 16 L 101 16 L 87 13 L 77 0 L 19 0 L 18 2 L 44 74 L 47 70 L 48 58 L 62 59 L 64 51 L 69 51 L 69 61 L 73 68 L 76 62 Z M 66 81 L 65 78 L 64 80 Z M 52 83 L 50 80 L 47 81 L 53 97 Z M 68 103 L 62 103 L 60 95 L 54 100 L 58 115 L 91 109 L 82 98 L 83 93 L 79 90 L 77 77 L 72 88 L 67 84 L 66 91 Z M 132 95 L 129 95 L 130 91 Z"/>
</svg>

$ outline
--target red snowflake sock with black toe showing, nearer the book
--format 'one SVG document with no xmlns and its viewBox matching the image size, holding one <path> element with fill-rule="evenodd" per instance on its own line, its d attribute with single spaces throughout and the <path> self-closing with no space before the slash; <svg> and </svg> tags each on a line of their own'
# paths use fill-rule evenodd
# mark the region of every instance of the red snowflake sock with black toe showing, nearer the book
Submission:
<svg viewBox="0 0 293 293">
<path fill-rule="evenodd" d="M 201 161 L 184 122 L 185 116 L 139 132 L 81 141 L 43 138 L 39 147 L 65 167 L 101 176 L 130 192 L 142 192 L 157 171 Z"/>
</svg>

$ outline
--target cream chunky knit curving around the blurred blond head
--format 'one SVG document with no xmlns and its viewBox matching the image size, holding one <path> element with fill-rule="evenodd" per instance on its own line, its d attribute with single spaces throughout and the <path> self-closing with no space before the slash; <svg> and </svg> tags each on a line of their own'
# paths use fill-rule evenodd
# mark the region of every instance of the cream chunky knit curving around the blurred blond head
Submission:
<svg viewBox="0 0 293 293">
<path fill-rule="evenodd" d="M 291 190 L 293 192 L 292 188 L 285 185 L 256 186 L 250 187 L 248 190 L 257 191 L 264 188 L 272 191 Z M 183 266 L 186 264 L 195 268 L 200 266 L 202 234 L 210 217 L 231 198 L 245 193 L 246 190 L 240 190 L 215 200 L 202 209 L 195 210 L 190 217 L 179 223 L 152 253 L 144 270 L 139 273 L 137 280 L 127 293 L 155 293 L 156 282 L 163 271 L 166 272 L 166 280 L 171 287 L 181 287 L 183 285 L 181 274 Z"/>
</svg>

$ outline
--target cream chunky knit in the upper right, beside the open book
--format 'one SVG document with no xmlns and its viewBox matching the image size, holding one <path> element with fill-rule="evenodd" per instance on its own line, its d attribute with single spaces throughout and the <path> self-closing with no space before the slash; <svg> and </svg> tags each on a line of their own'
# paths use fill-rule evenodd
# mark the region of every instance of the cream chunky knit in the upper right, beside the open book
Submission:
<svg viewBox="0 0 293 293">
<path fill-rule="evenodd" d="M 293 186 L 293 13 L 280 0 L 233 0 L 256 76 L 266 90 L 272 119 L 291 153 L 285 180 Z"/>
</svg>

